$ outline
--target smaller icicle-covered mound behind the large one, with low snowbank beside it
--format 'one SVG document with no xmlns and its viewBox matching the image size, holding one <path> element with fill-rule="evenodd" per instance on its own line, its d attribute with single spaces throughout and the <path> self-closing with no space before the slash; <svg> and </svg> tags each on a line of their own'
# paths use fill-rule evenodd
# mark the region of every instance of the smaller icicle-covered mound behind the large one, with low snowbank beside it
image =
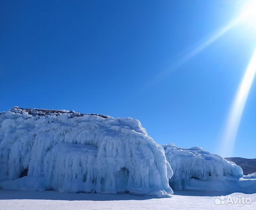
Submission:
<svg viewBox="0 0 256 210">
<path fill-rule="evenodd" d="M 176 190 L 256 193 L 256 173 L 243 175 L 242 168 L 202 147 L 183 149 L 164 144 L 174 175 L 169 183 Z"/>
</svg>

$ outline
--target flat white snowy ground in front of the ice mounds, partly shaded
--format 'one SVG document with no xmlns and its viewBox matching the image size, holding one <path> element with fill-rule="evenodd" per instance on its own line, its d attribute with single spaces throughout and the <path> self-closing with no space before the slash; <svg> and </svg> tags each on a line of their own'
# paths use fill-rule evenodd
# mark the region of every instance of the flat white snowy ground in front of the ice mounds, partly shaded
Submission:
<svg viewBox="0 0 256 210">
<path fill-rule="evenodd" d="M 233 193 L 232 200 L 251 199 L 250 204 L 219 204 L 217 192 L 175 191 L 172 198 L 131 194 L 58 193 L 55 191 L 0 191 L 0 210 L 255 210 L 256 194 Z M 216 200 L 217 199 L 217 200 Z M 225 202 L 228 195 L 225 196 Z M 239 201 L 238 201 L 239 203 Z"/>
</svg>

